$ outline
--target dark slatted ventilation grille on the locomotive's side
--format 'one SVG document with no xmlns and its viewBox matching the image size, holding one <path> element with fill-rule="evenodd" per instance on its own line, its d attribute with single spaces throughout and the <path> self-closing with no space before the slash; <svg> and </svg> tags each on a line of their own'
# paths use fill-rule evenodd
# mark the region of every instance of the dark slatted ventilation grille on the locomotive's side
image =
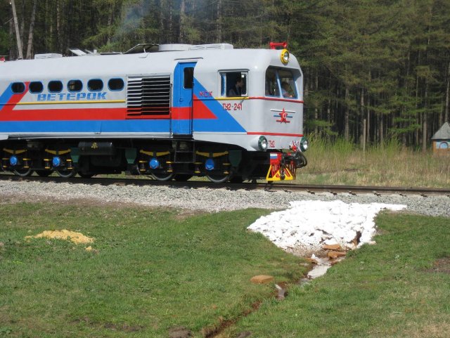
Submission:
<svg viewBox="0 0 450 338">
<path fill-rule="evenodd" d="M 170 77 L 130 77 L 127 86 L 127 115 L 170 114 Z"/>
</svg>

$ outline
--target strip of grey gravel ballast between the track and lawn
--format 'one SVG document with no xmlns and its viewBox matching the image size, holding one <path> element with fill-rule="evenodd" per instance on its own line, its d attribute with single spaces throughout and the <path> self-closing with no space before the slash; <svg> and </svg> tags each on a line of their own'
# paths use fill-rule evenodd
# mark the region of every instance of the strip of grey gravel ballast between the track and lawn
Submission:
<svg viewBox="0 0 450 338">
<path fill-rule="evenodd" d="M 221 212 L 262 208 L 287 209 L 290 202 L 302 200 L 341 200 L 346 203 L 405 204 L 406 212 L 450 217 L 450 197 L 420 195 L 350 195 L 341 193 L 290 193 L 267 190 L 228 190 L 210 188 L 175 188 L 171 186 L 101 186 L 98 184 L 41 183 L 0 181 L 0 197 L 8 200 L 44 202 L 94 200 L 101 203 L 132 203 L 151 207 L 174 207 L 186 211 Z"/>
</svg>

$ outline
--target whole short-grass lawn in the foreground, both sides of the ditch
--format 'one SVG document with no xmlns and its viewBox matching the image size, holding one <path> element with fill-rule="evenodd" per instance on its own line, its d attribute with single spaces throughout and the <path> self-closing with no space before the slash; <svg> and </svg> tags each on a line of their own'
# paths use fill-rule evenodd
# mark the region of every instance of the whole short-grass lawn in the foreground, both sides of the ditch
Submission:
<svg viewBox="0 0 450 338">
<path fill-rule="evenodd" d="M 217 337 L 450 337 L 446 218 L 383 214 L 377 245 L 278 301 L 252 275 L 293 282 L 305 266 L 248 233 L 266 211 L 0 207 L 0 337 L 205 337 L 224 324 Z M 25 239 L 61 229 L 95 240 Z"/>
</svg>

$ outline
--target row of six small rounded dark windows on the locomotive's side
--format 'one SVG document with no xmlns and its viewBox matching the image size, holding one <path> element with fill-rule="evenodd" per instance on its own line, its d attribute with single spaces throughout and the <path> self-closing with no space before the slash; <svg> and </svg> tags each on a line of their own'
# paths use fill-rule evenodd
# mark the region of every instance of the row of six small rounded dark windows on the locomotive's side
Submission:
<svg viewBox="0 0 450 338">
<path fill-rule="evenodd" d="M 122 91 L 124 89 L 124 80 L 122 79 L 110 79 L 108 81 L 108 88 L 110 91 Z M 59 80 L 51 81 L 47 85 L 50 93 L 60 93 L 63 91 L 63 82 Z M 70 80 L 68 82 L 68 91 L 71 93 L 76 93 L 77 91 L 82 91 L 83 83 L 80 80 Z M 87 89 L 89 91 L 101 91 L 103 90 L 103 80 L 101 79 L 90 79 L 87 82 Z M 30 82 L 28 86 L 28 91 L 30 93 L 42 93 L 44 90 L 44 85 L 42 82 Z M 23 93 L 25 91 L 25 84 L 23 82 L 14 82 L 11 85 L 11 91 L 16 94 Z"/>
</svg>

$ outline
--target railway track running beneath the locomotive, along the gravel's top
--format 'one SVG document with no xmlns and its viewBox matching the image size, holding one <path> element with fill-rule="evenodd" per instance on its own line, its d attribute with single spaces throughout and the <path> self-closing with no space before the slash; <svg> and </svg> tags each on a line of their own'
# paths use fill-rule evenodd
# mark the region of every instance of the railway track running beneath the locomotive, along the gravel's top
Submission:
<svg viewBox="0 0 450 338">
<path fill-rule="evenodd" d="M 383 187 L 383 186 L 326 186 L 326 185 L 303 185 L 296 183 L 211 183 L 210 181 L 156 181 L 152 178 L 110 178 L 110 177 L 93 177 L 93 178 L 61 178 L 59 176 L 27 176 L 20 177 L 13 174 L 0 174 L 0 180 L 8 181 L 39 181 L 39 182 L 70 182 L 73 184 L 100 184 L 102 186 L 118 185 L 118 186 L 172 186 L 179 188 L 226 188 L 229 190 L 283 190 L 283 191 L 304 191 L 311 194 L 331 193 L 337 195 L 339 193 L 349 193 L 351 195 L 374 194 L 374 195 L 444 195 L 450 197 L 450 188 L 414 188 L 414 187 Z"/>
</svg>

